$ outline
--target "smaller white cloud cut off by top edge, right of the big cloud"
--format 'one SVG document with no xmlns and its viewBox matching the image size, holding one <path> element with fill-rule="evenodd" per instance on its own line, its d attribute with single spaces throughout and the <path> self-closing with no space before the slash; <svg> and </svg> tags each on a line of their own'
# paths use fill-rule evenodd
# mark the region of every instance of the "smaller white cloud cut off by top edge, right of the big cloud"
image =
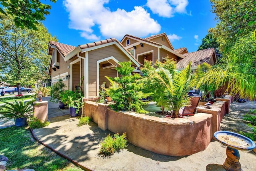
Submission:
<svg viewBox="0 0 256 171">
<path fill-rule="evenodd" d="M 173 17 L 174 13 L 187 14 L 188 0 L 147 0 L 147 4 L 154 14 L 162 17 Z"/>
</svg>

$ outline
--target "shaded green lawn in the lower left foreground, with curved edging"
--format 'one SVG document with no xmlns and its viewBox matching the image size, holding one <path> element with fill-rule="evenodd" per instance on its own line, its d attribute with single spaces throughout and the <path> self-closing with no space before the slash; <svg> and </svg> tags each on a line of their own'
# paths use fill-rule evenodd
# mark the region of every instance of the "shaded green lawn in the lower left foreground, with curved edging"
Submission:
<svg viewBox="0 0 256 171">
<path fill-rule="evenodd" d="M 70 161 L 34 141 L 28 127 L 0 129 L 0 155 L 8 157 L 7 169 L 35 171 L 82 171 Z"/>
</svg>

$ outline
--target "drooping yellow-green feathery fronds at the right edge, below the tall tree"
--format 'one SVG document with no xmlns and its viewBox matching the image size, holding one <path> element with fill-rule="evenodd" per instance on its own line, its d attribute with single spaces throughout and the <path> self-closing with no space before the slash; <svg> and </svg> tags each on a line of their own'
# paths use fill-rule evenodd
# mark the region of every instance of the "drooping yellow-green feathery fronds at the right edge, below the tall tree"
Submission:
<svg viewBox="0 0 256 171">
<path fill-rule="evenodd" d="M 225 66 L 211 68 L 198 80 L 197 86 L 227 84 L 230 93 L 250 100 L 256 97 L 256 30 L 240 37 L 226 50 Z"/>
</svg>

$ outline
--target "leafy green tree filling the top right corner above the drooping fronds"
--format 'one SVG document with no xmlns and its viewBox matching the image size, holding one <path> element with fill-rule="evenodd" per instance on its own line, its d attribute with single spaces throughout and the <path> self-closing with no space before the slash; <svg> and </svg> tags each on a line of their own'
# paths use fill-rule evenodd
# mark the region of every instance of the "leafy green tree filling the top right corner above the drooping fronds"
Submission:
<svg viewBox="0 0 256 171">
<path fill-rule="evenodd" d="M 256 28 L 255 0 L 210 0 L 210 2 L 218 23 L 209 31 L 216 36 L 221 51 L 226 48 L 226 43 L 235 42 L 236 38 Z"/>
</svg>

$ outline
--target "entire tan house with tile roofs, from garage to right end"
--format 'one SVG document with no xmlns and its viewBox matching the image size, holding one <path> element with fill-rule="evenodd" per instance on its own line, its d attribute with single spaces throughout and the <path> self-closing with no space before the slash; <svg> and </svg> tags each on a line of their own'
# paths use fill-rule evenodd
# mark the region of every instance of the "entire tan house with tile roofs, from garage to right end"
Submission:
<svg viewBox="0 0 256 171">
<path fill-rule="evenodd" d="M 102 82 L 109 85 L 105 76 L 117 76 L 114 68 L 119 62 L 132 62 L 134 72 L 138 73 L 145 59 L 153 61 L 154 65 L 156 61 L 164 62 L 166 56 L 177 61 L 177 70 L 185 68 L 190 61 L 193 72 L 203 62 L 216 63 L 214 48 L 190 53 L 186 48 L 175 50 L 165 33 L 147 38 L 127 34 L 120 42 L 110 38 L 77 47 L 50 41 L 48 55 L 51 56 L 48 68 L 51 84 L 62 79 L 67 89 L 74 91 L 82 86 L 85 100 L 99 97 Z"/>
</svg>

